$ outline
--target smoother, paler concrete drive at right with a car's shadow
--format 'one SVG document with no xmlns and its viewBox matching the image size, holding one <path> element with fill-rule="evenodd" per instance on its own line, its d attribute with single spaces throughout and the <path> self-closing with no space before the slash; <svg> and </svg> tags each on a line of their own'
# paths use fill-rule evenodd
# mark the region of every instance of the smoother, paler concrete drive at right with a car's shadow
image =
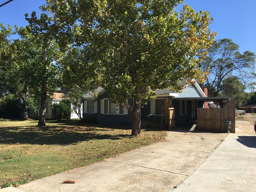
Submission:
<svg viewBox="0 0 256 192">
<path fill-rule="evenodd" d="M 238 132 L 230 134 L 173 192 L 255 192 L 256 137 Z"/>
</svg>

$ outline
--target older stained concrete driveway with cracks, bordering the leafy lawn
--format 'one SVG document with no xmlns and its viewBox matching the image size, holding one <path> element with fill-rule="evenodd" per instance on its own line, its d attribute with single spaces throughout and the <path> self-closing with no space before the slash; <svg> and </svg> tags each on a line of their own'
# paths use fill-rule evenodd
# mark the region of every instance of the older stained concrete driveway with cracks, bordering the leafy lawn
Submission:
<svg viewBox="0 0 256 192">
<path fill-rule="evenodd" d="M 224 140 L 226 133 L 174 130 L 159 142 L 91 166 L 19 186 L 26 192 L 165 192 L 191 175 Z M 79 180 L 64 184 L 63 180 Z"/>
</svg>

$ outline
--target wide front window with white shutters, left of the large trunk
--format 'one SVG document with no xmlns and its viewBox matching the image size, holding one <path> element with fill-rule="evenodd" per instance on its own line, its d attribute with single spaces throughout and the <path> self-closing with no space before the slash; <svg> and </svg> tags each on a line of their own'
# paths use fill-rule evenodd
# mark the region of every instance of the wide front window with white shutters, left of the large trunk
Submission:
<svg viewBox="0 0 256 192">
<path fill-rule="evenodd" d="M 104 99 L 102 100 L 102 105 L 104 114 L 124 114 L 124 106 L 119 105 L 118 103 L 111 103 L 108 99 Z"/>
</svg>

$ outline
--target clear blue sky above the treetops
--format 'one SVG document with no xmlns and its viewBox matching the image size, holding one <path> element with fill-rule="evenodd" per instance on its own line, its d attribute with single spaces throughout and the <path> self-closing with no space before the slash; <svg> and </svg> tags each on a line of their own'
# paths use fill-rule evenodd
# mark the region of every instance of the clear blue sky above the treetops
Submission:
<svg viewBox="0 0 256 192">
<path fill-rule="evenodd" d="M 0 0 L 0 4 L 7 0 Z M 39 12 L 45 0 L 13 0 L 0 7 L 0 23 L 26 26 L 24 14 Z M 256 54 L 256 0 L 185 0 L 195 11 L 208 11 L 214 18 L 210 28 L 218 33 L 216 39 L 229 38 L 240 46 L 240 52 Z"/>
</svg>

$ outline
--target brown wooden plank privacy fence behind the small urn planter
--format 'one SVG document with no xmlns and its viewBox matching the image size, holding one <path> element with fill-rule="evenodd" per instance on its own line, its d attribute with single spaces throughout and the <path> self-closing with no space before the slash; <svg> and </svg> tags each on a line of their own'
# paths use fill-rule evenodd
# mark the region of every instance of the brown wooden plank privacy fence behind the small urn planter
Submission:
<svg viewBox="0 0 256 192">
<path fill-rule="evenodd" d="M 235 133 L 235 99 L 223 103 L 223 108 L 197 108 L 197 130 L 226 132 L 224 121 L 231 121 L 230 133 Z"/>
</svg>

